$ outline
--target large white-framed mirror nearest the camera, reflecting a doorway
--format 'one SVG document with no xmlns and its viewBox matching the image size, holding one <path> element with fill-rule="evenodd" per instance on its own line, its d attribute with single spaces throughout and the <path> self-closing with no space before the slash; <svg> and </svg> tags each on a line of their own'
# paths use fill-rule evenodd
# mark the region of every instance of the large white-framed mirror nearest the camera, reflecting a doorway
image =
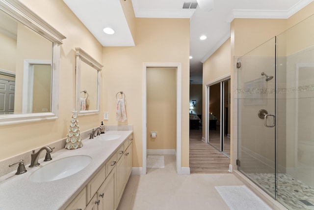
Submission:
<svg viewBox="0 0 314 210">
<path fill-rule="evenodd" d="M 0 125 L 58 117 L 65 39 L 17 0 L 0 0 Z"/>
</svg>

